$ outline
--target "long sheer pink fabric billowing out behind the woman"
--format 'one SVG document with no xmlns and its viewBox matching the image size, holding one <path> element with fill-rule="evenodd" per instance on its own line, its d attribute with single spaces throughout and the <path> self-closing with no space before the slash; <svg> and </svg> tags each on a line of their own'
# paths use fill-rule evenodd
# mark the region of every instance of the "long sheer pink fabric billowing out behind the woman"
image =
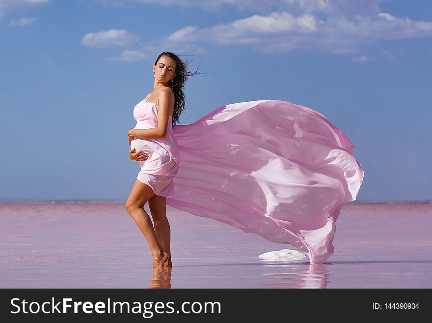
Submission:
<svg viewBox="0 0 432 323">
<path fill-rule="evenodd" d="M 223 106 L 173 128 L 180 167 L 166 204 L 291 244 L 320 264 L 364 172 L 322 114 L 287 101 Z"/>
</svg>

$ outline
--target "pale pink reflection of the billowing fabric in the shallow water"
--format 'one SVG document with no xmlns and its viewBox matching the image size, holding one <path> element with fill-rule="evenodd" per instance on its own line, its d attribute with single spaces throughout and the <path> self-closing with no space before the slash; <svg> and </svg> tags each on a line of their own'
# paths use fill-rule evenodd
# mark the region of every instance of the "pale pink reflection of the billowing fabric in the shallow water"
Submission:
<svg viewBox="0 0 432 323">
<path fill-rule="evenodd" d="M 277 262 L 260 261 L 262 263 L 271 263 L 267 267 L 274 267 L 273 272 L 267 272 L 264 276 L 267 278 L 259 288 L 327 288 L 330 281 L 330 273 L 326 268 L 331 263 L 310 264 L 304 262 Z M 307 270 L 303 269 L 308 265 Z M 270 282 L 267 282 L 270 281 Z"/>
</svg>

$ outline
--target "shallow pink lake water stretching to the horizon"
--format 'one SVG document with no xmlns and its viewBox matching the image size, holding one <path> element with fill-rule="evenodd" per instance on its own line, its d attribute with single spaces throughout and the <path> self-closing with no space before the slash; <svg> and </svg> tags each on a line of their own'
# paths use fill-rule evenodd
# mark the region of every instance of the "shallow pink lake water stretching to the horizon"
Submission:
<svg viewBox="0 0 432 323">
<path fill-rule="evenodd" d="M 173 267 L 162 272 L 124 205 L 1 202 L 0 288 L 432 287 L 432 203 L 348 204 L 321 265 L 260 260 L 296 248 L 167 206 Z"/>
</svg>

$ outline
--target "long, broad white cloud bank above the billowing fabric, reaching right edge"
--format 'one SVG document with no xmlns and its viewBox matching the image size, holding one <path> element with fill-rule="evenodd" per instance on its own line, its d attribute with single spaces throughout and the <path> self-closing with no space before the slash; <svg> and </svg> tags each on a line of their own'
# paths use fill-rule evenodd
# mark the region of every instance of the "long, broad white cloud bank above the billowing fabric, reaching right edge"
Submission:
<svg viewBox="0 0 432 323">
<path fill-rule="evenodd" d="M 318 19 L 311 14 L 293 16 L 288 12 L 254 15 L 229 24 L 197 28 L 187 26 L 168 36 L 168 40 L 184 43 L 219 45 L 249 44 L 257 51 L 324 50 L 332 53 L 356 53 L 362 46 L 380 39 L 403 39 L 432 35 L 431 22 L 397 18 L 388 13 L 376 16 L 328 17 Z"/>
</svg>

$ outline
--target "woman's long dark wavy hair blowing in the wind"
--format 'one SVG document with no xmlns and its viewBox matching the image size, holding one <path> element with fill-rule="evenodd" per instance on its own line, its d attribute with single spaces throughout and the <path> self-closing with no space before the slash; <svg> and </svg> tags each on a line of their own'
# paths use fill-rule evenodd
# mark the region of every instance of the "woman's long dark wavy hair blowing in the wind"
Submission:
<svg viewBox="0 0 432 323">
<path fill-rule="evenodd" d="M 185 110 L 185 94 L 183 93 L 183 88 L 188 81 L 188 77 L 190 75 L 196 75 L 198 67 L 195 72 L 187 71 L 188 62 L 183 62 L 176 54 L 171 52 L 162 52 L 159 54 L 156 59 L 155 65 L 158 64 L 159 59 L 163 56 L 169 57 L 170 59 L 176 62 L 175 73 L 176 76 L 174 80 L 168 81 L 168 84 L 171 86 L 172 91 L 174 92 L 175 103 L 174 103 L 174 113 L 172 114 L 172 126 L 174 127 L 179 120 L 180 114 Z"/>
</svg>

